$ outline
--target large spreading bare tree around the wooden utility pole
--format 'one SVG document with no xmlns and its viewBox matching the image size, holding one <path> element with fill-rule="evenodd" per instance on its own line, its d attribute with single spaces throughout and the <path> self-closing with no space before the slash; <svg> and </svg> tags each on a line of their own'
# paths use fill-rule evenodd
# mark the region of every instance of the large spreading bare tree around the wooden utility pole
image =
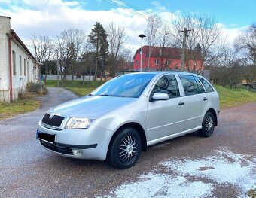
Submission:
<svg viewBox="0 0 256 198">
<path fill-rule="evenodd" d="M 180 46 L 183 35 L 179 31 L 185 27 L 192 30 L 187 38 L 185 54 L 185 67 L 189 72 L 201 73 L 204 66 L 211 66 L 223 55 L 223 50 L 215 50 L 221 42 L 221 28 L 216 23 L 215 17 L 205 14 L 188 14 L 173 20 L 172 25 L 171 34 Z M 197 44 L 200 44 L 200 52 L 195 50 Z"/>
</svg>

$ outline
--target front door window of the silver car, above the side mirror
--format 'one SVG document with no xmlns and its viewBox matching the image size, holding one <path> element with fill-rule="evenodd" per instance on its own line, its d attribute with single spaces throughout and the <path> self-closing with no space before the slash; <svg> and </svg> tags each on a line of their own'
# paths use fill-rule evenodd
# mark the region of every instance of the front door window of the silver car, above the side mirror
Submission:
<svg viewBox="0 0 256 198">
<path fill-rule="evenodd" d="M 165 75 L 161 77 L 157 81 L 157 84 L 155 84 L 151 97 L 157 92 L 167 93 L 169 99 L 180 96 L 175 75 Z"/>
</svg>

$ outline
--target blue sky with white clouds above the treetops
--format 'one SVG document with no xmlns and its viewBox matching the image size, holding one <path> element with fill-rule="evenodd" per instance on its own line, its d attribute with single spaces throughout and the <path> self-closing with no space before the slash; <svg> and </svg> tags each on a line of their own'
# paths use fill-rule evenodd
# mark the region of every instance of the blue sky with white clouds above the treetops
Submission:
<svg viewBox="0 0 256 198">
<path fill-rule="evenodd" d="M 213 15 L 232 43 L 239 32 L 256 22 L 255 8 L 254 0 L 0 0 L 0 15 L 11 17 L 11 29 L 25 43 L 34 34 L 55 37 L 62 29 L 71 27 L 84 29 L 88 35 L 97 21 L 104 27 L 113 21 L 126 28 L 127 45 L 133 50 L 140 47 L 138 35 L 147 26 L 145 17 L 134 14 L 141 15 L 136 10 L 159 14 L 167 21 L 190 12 Z"/>
</svg>

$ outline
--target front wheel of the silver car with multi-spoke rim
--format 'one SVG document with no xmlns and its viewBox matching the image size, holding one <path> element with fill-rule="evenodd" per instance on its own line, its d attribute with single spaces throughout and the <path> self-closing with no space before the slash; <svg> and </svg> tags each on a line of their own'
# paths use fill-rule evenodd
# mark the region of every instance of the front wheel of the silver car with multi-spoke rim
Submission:
<svg viewBox="0 0 256 198">
<path fill-rule="evenodd" d="M 107 160 L 111 166 L 127 169 L 139 159 L 142 140 L 136 129 L 125 127 L 117 132 L 108 148 Z"/>
</svg>

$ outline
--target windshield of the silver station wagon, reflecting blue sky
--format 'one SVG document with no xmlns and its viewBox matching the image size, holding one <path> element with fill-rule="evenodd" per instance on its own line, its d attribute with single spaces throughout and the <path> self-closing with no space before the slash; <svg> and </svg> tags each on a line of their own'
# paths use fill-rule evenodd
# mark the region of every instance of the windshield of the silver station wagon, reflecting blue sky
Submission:
<svg viewBox="0 0 256 198">
<path fill-rule="evenodd" d="M 138 98 L 154 74 L 121 75 L 108 81 L 91 95 Z"/>
</svg>

